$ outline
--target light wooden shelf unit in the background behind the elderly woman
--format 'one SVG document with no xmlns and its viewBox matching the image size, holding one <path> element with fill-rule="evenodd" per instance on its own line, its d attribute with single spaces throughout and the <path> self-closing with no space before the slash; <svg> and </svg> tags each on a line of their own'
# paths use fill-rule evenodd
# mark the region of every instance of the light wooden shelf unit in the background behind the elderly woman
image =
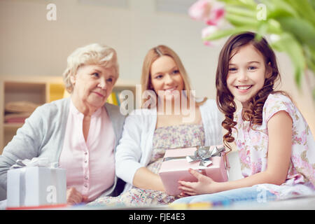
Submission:
<svg viewBox="0 0 315 224">
<path fill-rule="evenodd" d="M 113 91 L 134 92 L 136 106 L 136 83 L 119 80 Z M 23 123 L 5 123 L 5 105 L 8 102 L 27 101 L 45 104 L 64 97 L 64 83 L 61 76 L 0 76 L 0 154 Z"/>
</svg>

